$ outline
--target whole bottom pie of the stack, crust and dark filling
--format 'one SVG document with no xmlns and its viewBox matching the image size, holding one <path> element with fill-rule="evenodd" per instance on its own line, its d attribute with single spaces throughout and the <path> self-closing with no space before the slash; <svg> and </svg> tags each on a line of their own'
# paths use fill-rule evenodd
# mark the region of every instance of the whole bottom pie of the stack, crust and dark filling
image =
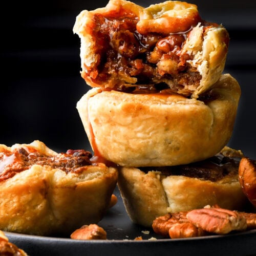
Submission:
<svg viewBox="0 0 256 256">
<path fill-rule="evenodd" d="M 243 209 L 247 199 L 238 181 L 239 160 L 222 154 L 193 164 L 119 169 L 118 187 L 133 222 L 150 227 L 168 212 L 218 204 Z"/>
</svg>

